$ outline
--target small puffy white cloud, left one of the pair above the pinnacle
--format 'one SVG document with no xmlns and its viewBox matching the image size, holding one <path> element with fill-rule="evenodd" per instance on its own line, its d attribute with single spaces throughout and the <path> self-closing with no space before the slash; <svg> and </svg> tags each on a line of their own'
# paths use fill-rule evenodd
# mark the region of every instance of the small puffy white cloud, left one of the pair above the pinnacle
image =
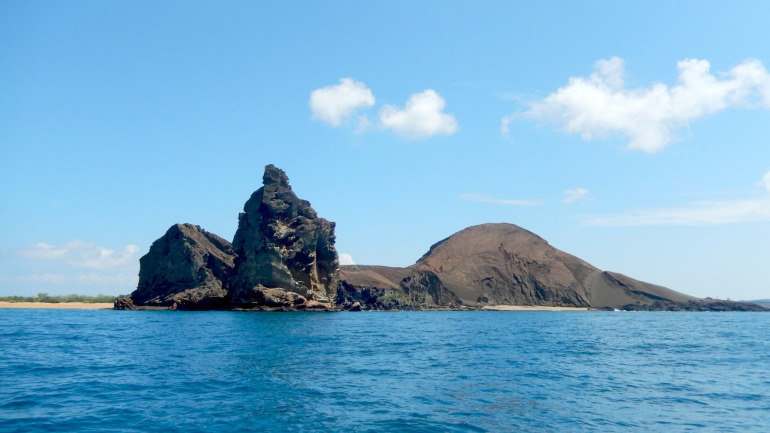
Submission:
<svg viewBox="0 0 770 433">
<path fill-rule="evenodd" d="M 340 126 L 343 120 L 352 116 L 359 108 L 369 108 L 372 105 L 372 91 L 364 83 L 353 81 L 352 78 L 342 78 L 336 86 L 322 87 L 310 93 L 313 119 L 319 119 L 332 126 Z M 366 117 L 359 117 L 359 129 L 365 128 L 368 123 Z"/>
</svg>

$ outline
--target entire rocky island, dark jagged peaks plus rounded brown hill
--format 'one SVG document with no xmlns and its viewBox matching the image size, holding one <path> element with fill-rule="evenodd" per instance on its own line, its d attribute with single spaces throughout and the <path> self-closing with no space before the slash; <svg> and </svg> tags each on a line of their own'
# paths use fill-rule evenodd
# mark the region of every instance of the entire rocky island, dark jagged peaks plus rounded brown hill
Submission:
<svg viewBox="0 0 770 433">
<path fill-rule="evenodd" d="M 424 310 L 517 305 L 623 310 L 766 311 L 700 299 L 602 271 L 513 224 L 469 227 L 414 265 L 339 266 L 335 224 L 265 167 L 233 242 L 175 224 L 140 263 L 116 309 Z"/>
</svg>

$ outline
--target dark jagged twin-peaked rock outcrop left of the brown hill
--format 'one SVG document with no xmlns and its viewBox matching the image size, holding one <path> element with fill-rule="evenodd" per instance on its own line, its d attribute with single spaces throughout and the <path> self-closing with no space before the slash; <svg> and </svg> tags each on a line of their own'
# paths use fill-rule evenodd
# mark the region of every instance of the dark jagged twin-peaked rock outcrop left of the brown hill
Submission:
<svg viewBox="0 0 770 433">
<path fill-rule="evenodd" d="M 171 226 L 139 260 L 137 289 L 115 308 L 335 309 L 334 242 L 334 223 L 268 165 L 233 244 L 192 224 Z"/>
</svg>

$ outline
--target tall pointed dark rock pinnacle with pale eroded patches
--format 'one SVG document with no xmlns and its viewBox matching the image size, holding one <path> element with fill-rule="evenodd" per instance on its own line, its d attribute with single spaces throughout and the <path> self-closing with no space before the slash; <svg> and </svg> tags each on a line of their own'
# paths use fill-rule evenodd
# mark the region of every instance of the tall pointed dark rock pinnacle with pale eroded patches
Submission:
<svg viewBox="0 0 770 433">
<path fill-rule="evenodd" d="M 275 166 L 265 167 L 263 184 L 238 217 L 233 304 L 259 304 L 266 289 L 281 289 L 333 305 L 339 267 L 334 223 L 299 199 Z"/>
</svg>

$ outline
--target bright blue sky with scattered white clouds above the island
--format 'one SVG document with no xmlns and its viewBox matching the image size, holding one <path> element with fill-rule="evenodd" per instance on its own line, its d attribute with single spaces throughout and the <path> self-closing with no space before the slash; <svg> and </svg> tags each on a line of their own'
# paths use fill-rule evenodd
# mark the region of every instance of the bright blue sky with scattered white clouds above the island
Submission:
<svg viewBox="0 0 770 433">
<path fill-rule="evenodd" d="M 118 294 L 266 164 L 359 264 L 509 222 L 770 298 L 770 3 L 0 3 L 0 295 Z"/>
</svg>

